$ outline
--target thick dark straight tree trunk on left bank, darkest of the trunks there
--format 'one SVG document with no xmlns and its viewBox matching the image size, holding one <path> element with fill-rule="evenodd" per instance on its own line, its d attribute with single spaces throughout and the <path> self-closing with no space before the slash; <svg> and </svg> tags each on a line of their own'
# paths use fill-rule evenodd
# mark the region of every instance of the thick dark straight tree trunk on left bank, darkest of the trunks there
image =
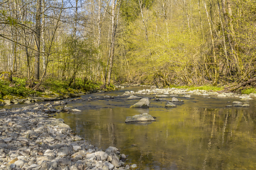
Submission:
<svg viewBox="0 0 256 170">
<path fill-rule="evenodd" d="M 39 80 L 40 69 L 40 41 L 41 41 L 41 3 L 42 0 L 36 0 L 36 56 L 35 56 L 35 72 L 34 79 Z"/>
</svg>

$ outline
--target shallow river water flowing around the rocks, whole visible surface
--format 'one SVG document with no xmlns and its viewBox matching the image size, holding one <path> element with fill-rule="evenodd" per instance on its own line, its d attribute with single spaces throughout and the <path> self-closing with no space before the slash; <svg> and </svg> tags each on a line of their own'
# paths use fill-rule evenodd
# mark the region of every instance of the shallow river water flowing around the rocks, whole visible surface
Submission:
<svg viewBox="0 0 256 170">
<path fill-rule="evenodd" d="M 144 88 L 82 96 L 67 105 L 81 112 L 58 113 L 55 118 L 63 118 L 100 149 L 119 148 L 127 155 L 125 163 L 137 164 L 137 169 L 256 169 L 255 101 L 250 108 L 226 108 L 240 99 L 176 96 L 184 103 L 166 109 L 166 102 L 146 96 L 150 108 L 138 109 L 129 106 L 139 100 L 118 96 L 139 89 Z M 114 98 L 103 98 L 106 95 Z M 149 113 L 156 122 L 124 123 L 139 113 Z"/>
</svg>

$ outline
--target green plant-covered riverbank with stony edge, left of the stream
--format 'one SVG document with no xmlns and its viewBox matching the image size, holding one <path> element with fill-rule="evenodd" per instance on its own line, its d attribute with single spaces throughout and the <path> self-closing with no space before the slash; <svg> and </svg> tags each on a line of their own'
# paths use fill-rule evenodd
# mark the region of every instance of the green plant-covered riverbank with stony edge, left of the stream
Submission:
<svg viewBox="0 0 256 170">
<path fill-rule="evenodd" d="M 41 101 L 60 101 L 65 98 L 80 97 L 102 91 L 116 90 L 114 86 L 101 89 L 100 85 L 91 81 L 76 80 L 76 84 L 68 85 L 68 81 L 48 79 L 38 91 L 28 87 L 26 79 L 13 77 L 12 81 L 0 80 L 0 105 L 30 104 Z"/>
</svg>

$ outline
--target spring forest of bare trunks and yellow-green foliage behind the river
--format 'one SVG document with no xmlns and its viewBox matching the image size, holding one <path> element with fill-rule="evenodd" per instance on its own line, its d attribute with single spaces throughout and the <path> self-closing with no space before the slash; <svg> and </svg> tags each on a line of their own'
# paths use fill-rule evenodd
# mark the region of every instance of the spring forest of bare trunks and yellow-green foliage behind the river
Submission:
<svg viewBox="0 0 256 170">
<path fill-rule="evenodd" d="M 255 0 L 2 0 L 0 71 L 156 86 L 255 86 Z"/>
</svg>

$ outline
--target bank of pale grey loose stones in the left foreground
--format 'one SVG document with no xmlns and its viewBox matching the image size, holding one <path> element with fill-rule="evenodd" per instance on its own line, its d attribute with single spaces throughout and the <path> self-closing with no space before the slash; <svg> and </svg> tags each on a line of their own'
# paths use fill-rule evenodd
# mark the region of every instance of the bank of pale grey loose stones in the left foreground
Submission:
<svg viewBox="0 0 256 170">
<path fill-rule="evenodd" d="M 54 109 L 50 103 L 1 109 L 0 169 L 129 169 L 117 148 L 102 151 L 50 118 Z"/>
</svg>

